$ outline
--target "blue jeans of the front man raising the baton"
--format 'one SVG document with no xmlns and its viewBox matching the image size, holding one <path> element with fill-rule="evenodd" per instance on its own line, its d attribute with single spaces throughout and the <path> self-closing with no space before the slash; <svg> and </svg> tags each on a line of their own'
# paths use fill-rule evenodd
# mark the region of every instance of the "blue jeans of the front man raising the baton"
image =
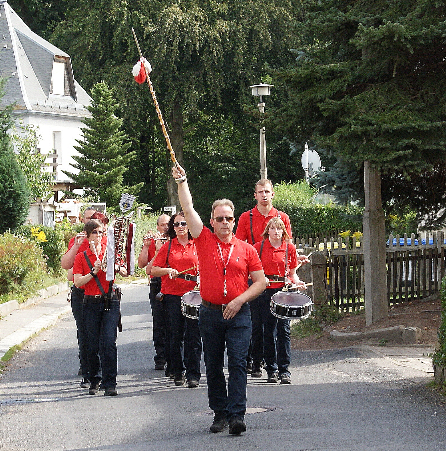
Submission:
<svg viewBox="0 0 446 451">
<path fill-rule="evenodd" d="M 205 355 L 209 407 L 225 413 L 228 420 L 246 412 L 246 357 L 251 338 L 251 314 L 243 304 L 237 315 L 223 319 L 220 310 L 200 306 L 198 320 Z M 228 391 L 223 373 L 224 351 L 228 349 Z"/>
</svg>

